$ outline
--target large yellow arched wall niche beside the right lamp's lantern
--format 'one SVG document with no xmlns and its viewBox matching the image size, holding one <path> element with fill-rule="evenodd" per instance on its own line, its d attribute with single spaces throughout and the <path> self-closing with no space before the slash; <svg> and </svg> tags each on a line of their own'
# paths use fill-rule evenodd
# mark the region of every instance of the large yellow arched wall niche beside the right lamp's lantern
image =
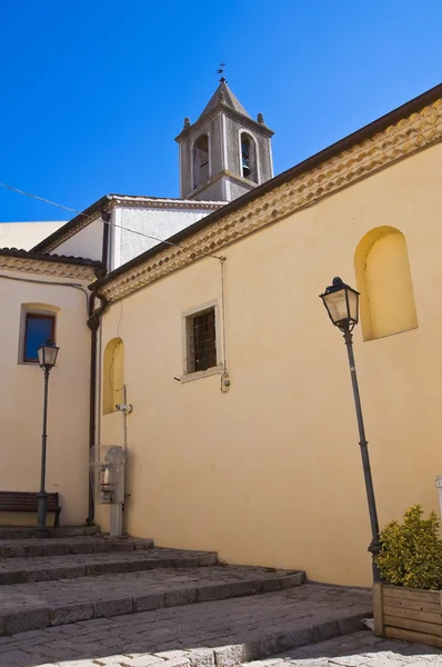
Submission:
<svg viewBox="0 0 442 667">
<path fill-rule="evenodd" d="M 413 281 L 404 235 L 394 227 L 376 227 L 354 255 L 364 340 L 418 327 Z"/>
</svg>

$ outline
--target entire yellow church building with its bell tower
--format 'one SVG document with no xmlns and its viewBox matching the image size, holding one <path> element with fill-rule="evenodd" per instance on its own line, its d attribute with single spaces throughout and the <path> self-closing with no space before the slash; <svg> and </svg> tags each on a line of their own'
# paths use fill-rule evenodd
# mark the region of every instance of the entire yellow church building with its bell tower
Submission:
<svg viewBox="0 0 442 667">
<path fill-rule="evenodd" d="M 438 509 L 442 84 L 277 177 L 271 137 L 221 80 L 175 139 L 179 199 L 107 195 L 31 249 L 0 249 L 1 490 L 39 488 L 50 337 L 62 525 L 109 530 L 90 462 L 118 446 L 130 535 L 369 585 L 346 352 L 318 297 L 336 276 L 361 295 L 381 526 Z"/>
</svg>

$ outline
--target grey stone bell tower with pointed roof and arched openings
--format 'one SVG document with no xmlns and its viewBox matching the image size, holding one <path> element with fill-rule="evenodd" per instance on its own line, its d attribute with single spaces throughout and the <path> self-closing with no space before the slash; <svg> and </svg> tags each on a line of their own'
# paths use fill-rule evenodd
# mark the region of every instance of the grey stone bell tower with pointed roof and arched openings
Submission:
<svg viewBox="0 0 442 667">
<path fill-rule="evenodd" d="M 232 201 L 273 177 L 273 136 L 262 113 L 253 120 L 222 77 L 201 116 L 175 138 L 180 197 Z"/>
</svg>

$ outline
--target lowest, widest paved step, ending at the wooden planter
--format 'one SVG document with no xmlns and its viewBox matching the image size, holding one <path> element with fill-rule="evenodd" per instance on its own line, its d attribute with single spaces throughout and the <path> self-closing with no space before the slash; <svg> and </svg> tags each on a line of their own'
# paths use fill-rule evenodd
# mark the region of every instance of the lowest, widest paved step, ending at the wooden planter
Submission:
<svg viewBox="0 0 442 667">
<path fill-rule="evenodd" d="M 360 630 L 371 613 L 370 590 L 305 584 L 2 637 L 0 667 L 235 667 Z"/>
</svg>

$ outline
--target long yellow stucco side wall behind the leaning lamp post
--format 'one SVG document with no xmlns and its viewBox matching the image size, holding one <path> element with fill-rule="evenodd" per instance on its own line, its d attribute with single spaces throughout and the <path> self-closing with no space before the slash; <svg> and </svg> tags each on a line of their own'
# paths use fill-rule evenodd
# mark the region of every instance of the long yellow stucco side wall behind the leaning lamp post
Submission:
<svg viewBox="0 0 442 667">
<path fill-rule="evenodd" d="M 371 229 L 401 231 L 418 328 L 363 342 L 355 357 L 381 524 L 414 502 L 438 508 L 442 472 L 442 147 L 324 198 L 222 250 L 231 388 L 180 384 L 182 312 L 221 302 L 207 258 L 112 306 L 104 345 L 124 341 L 132 535 L 215 549 L 234 563 L 304 568 L 368 585 L 370 527 L 345 347 L 318 298 L 355 287 Z M 101 442 L 120 444 L 122 416 Z M 99 516 L 104 516 L 99 510 Z"/>
</svg>

